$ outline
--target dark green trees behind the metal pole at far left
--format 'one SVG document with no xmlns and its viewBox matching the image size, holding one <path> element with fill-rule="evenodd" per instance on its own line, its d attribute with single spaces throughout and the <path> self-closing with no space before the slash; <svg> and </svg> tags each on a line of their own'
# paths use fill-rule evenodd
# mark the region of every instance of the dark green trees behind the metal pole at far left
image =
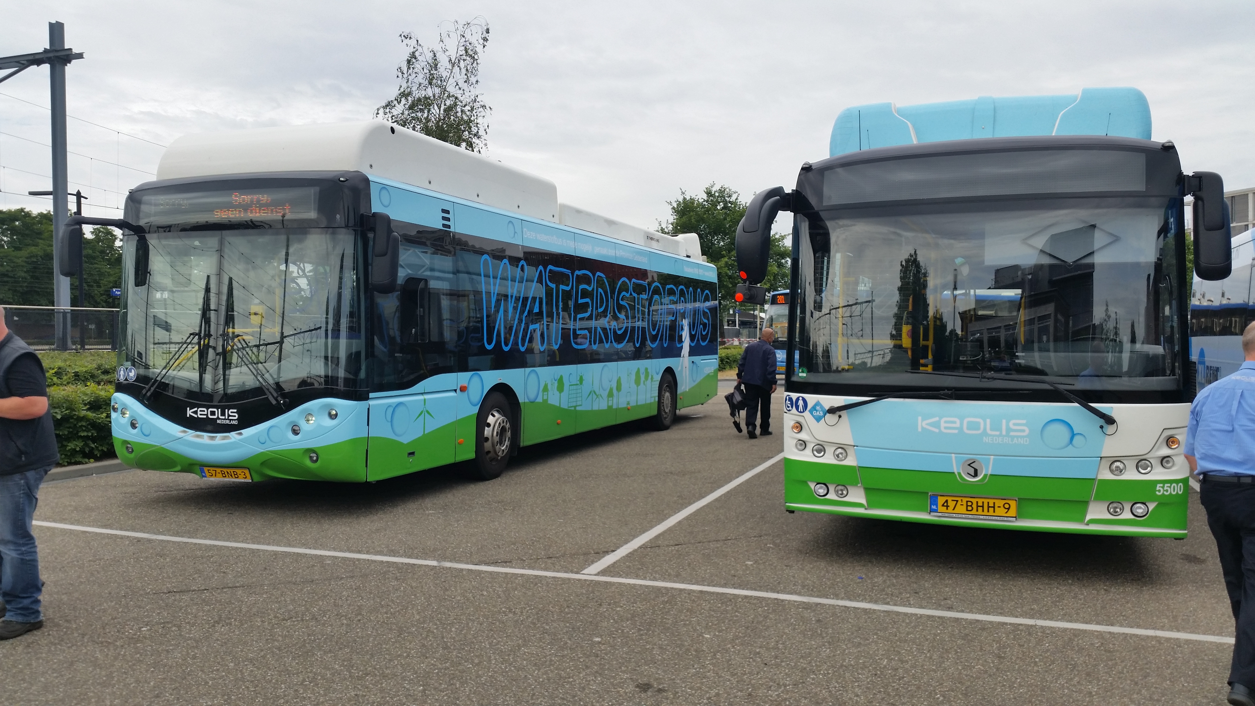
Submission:
<svg viewBox="0 0 1255 706">
<path fill-rule="evenodd" d="M 97 226 L 83 237 L 87 307 L 113 308 L 109 290 L 122 286 L 122 247 L 117 234 Z M 70 281 L 78 307 L 78 281 Z M 53 214 L 26 209 L 0 210 L 0 304 L 51 307 Z"/>
</svg>

